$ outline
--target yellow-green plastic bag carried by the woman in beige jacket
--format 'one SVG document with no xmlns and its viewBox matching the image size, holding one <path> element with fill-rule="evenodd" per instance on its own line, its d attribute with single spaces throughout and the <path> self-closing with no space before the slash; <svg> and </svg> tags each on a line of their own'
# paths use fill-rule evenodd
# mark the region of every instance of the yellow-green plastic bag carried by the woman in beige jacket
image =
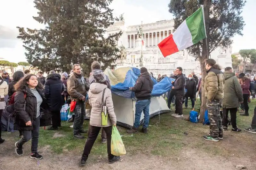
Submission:
<svg viewBox="0 0 256 170">
<path fill-rule="evenodd" d="M 126 154 L 122 138 L 121 138 L 116 126 L 113 126 L 113 129 L 112 129 L 111 154 L 115 155 L 115 156 L 121 156 L 121 155 Z"/>
</svg>

